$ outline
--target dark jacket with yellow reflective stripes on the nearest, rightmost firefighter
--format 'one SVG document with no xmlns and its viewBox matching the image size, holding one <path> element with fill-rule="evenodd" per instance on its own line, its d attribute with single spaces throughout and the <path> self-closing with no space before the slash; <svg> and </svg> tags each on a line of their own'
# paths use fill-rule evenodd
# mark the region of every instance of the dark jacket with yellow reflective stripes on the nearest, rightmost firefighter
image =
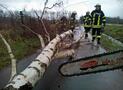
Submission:
<svg viewBox="0 0 123 90">
<path fill-rule="evenodd" d="M 92 16 L 92 28 L 101 28 L 102 24 L 105 26 L 106 17 L 101 10 L 94 10 L 91 13 Z"/>
</svg>

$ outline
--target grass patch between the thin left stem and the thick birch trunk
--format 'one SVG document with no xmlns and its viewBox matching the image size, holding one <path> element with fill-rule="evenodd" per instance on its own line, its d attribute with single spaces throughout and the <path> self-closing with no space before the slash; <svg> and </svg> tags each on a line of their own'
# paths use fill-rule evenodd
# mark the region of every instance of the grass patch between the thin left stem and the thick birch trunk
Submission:
<svg viewBox="0 0 123 90">
<path fill-rule="evenodd" d="M 23 57 L 34 53 L 40 47 L 38 38 L 23 38 L 10 45 L 17 59 L 22 59 Z"/>
</svg>

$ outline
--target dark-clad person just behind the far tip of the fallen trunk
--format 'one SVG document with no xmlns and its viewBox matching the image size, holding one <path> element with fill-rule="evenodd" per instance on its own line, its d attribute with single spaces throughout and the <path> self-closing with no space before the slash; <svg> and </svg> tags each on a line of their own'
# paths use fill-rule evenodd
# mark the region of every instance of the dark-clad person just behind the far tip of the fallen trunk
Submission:
<svg viewBox="0 0 123 90">
<path fill-rule="evenodd" d="M 70 29 L 73 31 L 75 29 L 76 26 L 76 15 L 77 13 L 74 11 L 71 16 L 70 16 L 70 21 L 69 21 L 69 25 L 70 25 Z"/>
</svg>

